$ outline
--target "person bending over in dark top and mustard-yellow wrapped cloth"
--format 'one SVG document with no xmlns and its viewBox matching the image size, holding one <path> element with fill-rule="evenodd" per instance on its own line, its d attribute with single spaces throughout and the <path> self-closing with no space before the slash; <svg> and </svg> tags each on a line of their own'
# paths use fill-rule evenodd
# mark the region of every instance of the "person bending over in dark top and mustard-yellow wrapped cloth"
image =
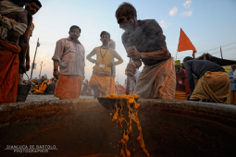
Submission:
<svg viewBox="0 0 236 157">
<path fill-rule="evenodd" d="M 188 84 L 190 87 L 190 100 L 213 100 L 212 102 L 224 103 L 229 95 L 229 76 L 220 65 L 207 61 L 196 60 L 192 57 L 183 59 Z M 193 74 L 199 78 L 194 85 Z"/>
</svg>

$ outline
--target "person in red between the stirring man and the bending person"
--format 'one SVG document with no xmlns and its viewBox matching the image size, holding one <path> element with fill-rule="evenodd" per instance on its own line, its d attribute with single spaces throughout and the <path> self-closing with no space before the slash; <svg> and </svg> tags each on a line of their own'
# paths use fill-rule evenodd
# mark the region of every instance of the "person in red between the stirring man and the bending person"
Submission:
<svg viewBox="0 0 236 157">
<path fill-rule="evenodd" d="M 188 79 L 185 70 L 182 68 L 180 60 L 175 61 L 175 72 L 176 72 L 176 91 L 175 100 L 184 101 L 190 94 L 188 85 Z"/>
</svg>

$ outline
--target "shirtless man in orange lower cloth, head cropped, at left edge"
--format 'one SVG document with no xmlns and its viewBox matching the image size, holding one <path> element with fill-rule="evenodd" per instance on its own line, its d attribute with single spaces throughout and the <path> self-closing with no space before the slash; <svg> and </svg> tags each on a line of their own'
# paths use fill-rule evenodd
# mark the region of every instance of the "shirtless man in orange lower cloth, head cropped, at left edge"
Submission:
<svg viewBox="0 0 236 157">
<path fill-rule="evenodd" d="M 30 2 L 0 0 L 0 104 L 16 102 L 19 72 L 25 72 L 32 16 L 23 6 Z"/>
</svg>

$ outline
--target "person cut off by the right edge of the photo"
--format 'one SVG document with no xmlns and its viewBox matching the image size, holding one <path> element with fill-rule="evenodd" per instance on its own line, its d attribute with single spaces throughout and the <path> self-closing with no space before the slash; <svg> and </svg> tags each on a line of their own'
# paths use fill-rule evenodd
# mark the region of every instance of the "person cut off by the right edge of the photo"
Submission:
<svg viewBox="0 0 236 157">
<path fill-rule="evenodd" d="M 236 79 L 234 78 L 234 74 L 236 73 L 236 65 L 233 64 L 231 66 L 232 70 L 229 73 L 230 78 L 230 91 L 231 91 L 231 100 L 230 103 L 236 105 Z"/>
</svg>

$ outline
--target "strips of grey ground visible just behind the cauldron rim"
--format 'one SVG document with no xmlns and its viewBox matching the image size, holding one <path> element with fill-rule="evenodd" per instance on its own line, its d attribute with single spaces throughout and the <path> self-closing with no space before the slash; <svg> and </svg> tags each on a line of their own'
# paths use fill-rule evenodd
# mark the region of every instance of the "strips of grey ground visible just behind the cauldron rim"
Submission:
<svg viewBox="0 0 236 157">
<path fill-rule="evenodd" d="M 93 99 L 93 96 L 81 95 L 79 98 Z M 45 100 L 59 100 L 59 99 L 57 97 L 54 97 L 54 95 L 35 95 L 35 94 L 29 94 L 27 99 L 26 99 L 26 102 L 45 101 Z"/>
</svg>

